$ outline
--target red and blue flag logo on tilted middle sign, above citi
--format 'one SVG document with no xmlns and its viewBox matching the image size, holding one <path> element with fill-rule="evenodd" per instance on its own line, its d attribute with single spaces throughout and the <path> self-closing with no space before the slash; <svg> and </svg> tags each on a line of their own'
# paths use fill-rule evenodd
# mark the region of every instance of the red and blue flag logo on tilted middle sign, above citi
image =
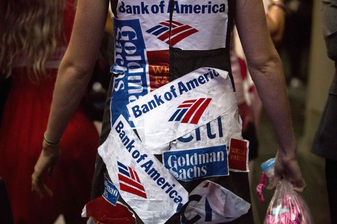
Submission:
<svg viewBox="0 0 337 224">
<path fill-rule="evenodd" d="M 181 123 L 197 124 L 211 100 L 211 98 L 186 100 L 177 107 L 177 110 L 169 118 L 169 121 L 181 120 Z"/>
</svg>

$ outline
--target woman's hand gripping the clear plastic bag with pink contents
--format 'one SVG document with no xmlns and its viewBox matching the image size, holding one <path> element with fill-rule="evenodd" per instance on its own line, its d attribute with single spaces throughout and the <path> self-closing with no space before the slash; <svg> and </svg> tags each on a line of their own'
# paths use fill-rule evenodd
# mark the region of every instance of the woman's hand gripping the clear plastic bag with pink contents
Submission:
<svg viewBox="0 0 337 224">
<path fill-rule="evenodd" d="M 306 187 L 299 169 L 296 155 L 283 155 L 280 152 L 276 154 L 275 168 L 274 168 L 274 181 L 268 186 L 270 189 L 276 189 L 278 182 L 285 178 L 294 186 L 294 190 L 302 192 Z"/>
</svg>

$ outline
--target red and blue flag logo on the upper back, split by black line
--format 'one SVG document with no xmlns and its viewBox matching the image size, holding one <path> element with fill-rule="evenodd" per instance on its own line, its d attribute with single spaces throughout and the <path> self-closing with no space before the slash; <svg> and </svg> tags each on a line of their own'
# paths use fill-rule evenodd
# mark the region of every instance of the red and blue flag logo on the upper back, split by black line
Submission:
<svg viewBox="0 0 337 224">
<path fill-rule="evenodd" d="M 159 23 L 159 25 L 152 27 L 146 32 L 165 41 L 167 44 L 171 42 L 171 46 L 173 46 L 180 40 L 197 33 L 198 30 L 189 25 L 184 25 L 172 20 L 171 40 L 169 40 L 169 20 L 167 20 Z"/>
</svg>

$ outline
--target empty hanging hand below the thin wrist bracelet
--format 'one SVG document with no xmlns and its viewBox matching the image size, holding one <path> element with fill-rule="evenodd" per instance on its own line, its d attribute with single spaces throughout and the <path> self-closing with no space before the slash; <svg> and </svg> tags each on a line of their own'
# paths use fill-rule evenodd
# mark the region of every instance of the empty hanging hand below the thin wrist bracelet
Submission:
<svg viewBox="0 0 337 224">
<path fill-rule="evenodd" d="M 43 197 L 45 193 L 50 197 L 53 196 L 53 192 L 44 184 L 43 177 L 46 172 L 49 177 L 53 176 L 59 159 L 60 145 L 49 145 L 43 140 L 42 151 L 32 174 L 32 191 L 35 191 L 40 197 Z"/>
</svg>

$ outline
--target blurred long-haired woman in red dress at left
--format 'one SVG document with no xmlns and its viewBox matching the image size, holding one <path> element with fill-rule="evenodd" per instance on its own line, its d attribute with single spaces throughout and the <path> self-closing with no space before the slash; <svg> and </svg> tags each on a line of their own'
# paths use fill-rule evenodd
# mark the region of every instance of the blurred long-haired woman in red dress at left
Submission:
<svg viewBox="0 0 337 224">
<path fill-rule="evenodd" d="M 56 74 L 71 36 L 74 0 L 5 0 L 0 12 L 0 80 L 12 78 L 0 126 L 0 176 L 14 222 L 50 224 L 60 214 L 67 223 L 84 222 L 98 134 L 81 105 L 63 135 L 62 165 L 47 179 L 54 191 L 44 188 L 49 196 L 42 197 L 31 189 Z M 44 141 L 47 145 L 53 147 Z"/>
</svg>

